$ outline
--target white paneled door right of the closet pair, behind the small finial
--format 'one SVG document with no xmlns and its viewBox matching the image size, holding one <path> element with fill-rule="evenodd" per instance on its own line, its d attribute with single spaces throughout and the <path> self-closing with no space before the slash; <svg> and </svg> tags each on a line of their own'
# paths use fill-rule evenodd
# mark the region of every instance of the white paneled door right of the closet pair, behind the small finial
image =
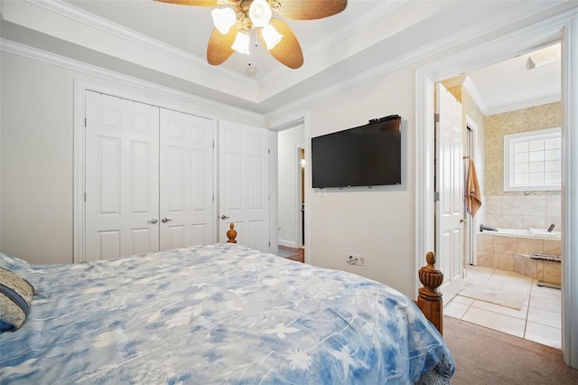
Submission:
<svg viewBox="0 0 578 385">
<path fill-rule="evenodd" d="M 219 122 L 219 239 L 230 222 L 238 243 L 269 251 L 268 132 Z"/>
</svg>

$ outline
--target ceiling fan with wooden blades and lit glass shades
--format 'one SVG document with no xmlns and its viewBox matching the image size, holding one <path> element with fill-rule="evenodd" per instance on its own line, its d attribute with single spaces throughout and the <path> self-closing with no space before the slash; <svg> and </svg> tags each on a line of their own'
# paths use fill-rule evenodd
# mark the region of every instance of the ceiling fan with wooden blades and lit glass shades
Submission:
<svg viewBox="0 0 578 385">
<path fill-rule="evenodd" d="M 301 45 L 273 12 L 290 20 L 316 20 L 339 14 L 347 0 L 155 0 L 175 5 L 219 7 L 211 12 L 215 30 L 210 35 L 207 61 L 219 65 L 233 52 L 249 54 L 249 33 L 256 30 L 259 41 L 289 68 L 303 65 Z"/>
</svg>

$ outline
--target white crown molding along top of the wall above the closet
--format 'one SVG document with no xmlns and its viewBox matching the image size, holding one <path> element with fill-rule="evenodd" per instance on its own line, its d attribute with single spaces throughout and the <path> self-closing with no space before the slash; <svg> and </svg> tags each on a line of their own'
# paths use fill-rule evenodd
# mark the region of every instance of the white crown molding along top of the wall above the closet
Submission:
<svg viewBox="0 0 578 385">
<path fill-rule="evenodd" d="M 220 103 L 212 99 L 206 99 L 188 92 L 164 87 L 151 81 L 124 75 L 112 70 L 103 69 L 83 61 L 76 61 L 74 59 L 60 56 L 51 52 L 45 52 L 40 49 L 21 44 L 19 42 L 12 42 L 10 40 L 0 38 L 0 52 L 8 52 L 34 61 L 42 61 L 47 64 L 65 68 L 67 70 L 73 70 L 86 75 L 94 76 L 96 78 L 112 80 L 135 89 L 143 89 L 145 91 L 149 91 L 157 95 L 162 95 L 164 97 L 193 103 L 200 106 L 201 108 L 223 110 L 230 114 L 237 115 L 238 117 L 263 121 L 262 115 L 247 111 L 246 109 L 235 108 L 228 104 Z"/>
</svg>

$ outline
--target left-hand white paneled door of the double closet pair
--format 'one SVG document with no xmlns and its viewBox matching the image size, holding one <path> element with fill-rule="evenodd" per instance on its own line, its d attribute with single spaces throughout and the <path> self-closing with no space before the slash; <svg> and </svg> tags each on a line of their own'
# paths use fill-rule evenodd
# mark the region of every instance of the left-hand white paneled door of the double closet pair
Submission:
<svg viewBox="0 0 578 385">
<path fill-rule="evenodd" d="M 85 260 L 158 251 L 159 108 L 86 100 Z"/>
</svg>

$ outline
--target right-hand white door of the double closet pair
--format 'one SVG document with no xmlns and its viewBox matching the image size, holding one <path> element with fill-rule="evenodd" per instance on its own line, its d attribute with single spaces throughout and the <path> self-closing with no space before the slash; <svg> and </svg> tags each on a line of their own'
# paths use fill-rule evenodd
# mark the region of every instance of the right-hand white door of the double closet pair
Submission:
<svg viewBox="0 0 578 385">
<path fill-rule="evenodd" d="M 161 109 L 161 249 L 215 242 L 210 119 Z"/>
</svg>

